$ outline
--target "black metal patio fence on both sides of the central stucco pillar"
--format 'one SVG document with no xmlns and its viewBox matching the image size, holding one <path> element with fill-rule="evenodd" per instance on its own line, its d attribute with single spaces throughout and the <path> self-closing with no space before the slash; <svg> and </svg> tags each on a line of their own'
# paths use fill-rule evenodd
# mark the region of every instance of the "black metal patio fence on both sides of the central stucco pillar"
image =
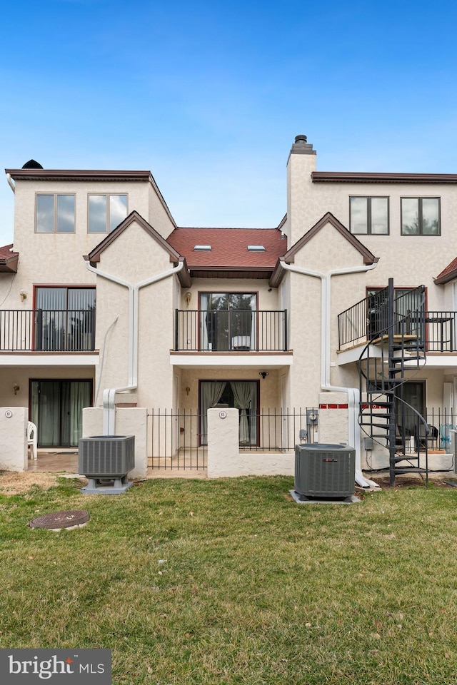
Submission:
<svg viewBox="0 0 457 685">
<path fill-rule="evenodd" d="M 312 417 L 312 418 L 311 418 Z M 314 442 L 317 409 L 239 412 L 240 452 L 288 452 Z M 206 417 L 198 410 L 151 410 L 148 414 L 153 469 L 199 470 L 207 465 Z"/>
</svg>

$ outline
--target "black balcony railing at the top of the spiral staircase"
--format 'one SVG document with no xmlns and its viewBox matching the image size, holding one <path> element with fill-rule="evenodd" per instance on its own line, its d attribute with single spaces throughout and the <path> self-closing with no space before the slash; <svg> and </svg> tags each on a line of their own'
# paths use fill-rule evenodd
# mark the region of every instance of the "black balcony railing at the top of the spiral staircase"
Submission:
<svg viewBox="0 0 457 685">
<path fill-rule="evenodd" d="M 427 352 L 456 352 L 457 312 L 427 312 L 413 307 L 413 302 L 398 298 L 394 333 L 416 336 Z M 338 315 L 339 349 L 376 339 L 386 328 L 383 303 L 374 303 L 372 298 L 361 300 Z"/>
</svg>

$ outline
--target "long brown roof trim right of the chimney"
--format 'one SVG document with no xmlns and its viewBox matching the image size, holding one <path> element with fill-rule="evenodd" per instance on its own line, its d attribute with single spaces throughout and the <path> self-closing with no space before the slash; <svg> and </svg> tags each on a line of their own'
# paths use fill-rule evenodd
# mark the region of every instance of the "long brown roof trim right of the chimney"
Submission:
<svg viewBox="0 0 457 685">
<path fill-rule="evenodd" d="M 457 183 L 457 173 L 313 171 L 313 183 Z"/>
</svg>

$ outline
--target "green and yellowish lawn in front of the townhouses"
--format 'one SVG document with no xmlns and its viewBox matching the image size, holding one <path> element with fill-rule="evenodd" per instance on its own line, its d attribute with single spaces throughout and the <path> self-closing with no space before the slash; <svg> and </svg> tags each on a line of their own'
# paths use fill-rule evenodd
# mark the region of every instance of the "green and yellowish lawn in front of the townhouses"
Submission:
<svg viewBox="0 0 457 685">
<path fill-rule="evenodd" d="M 110 648 L 115 685 L 457 683 L 456 489 L 61 483 L 0 495 L 1 647 Z M 91 520 L 27 527 L 61 509 Z"/>
</svg>

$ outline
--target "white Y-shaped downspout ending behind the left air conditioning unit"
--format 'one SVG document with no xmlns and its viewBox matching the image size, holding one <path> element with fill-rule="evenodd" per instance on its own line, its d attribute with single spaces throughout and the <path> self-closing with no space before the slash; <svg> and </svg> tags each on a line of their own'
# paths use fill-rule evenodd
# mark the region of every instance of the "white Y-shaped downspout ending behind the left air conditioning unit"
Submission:
<svg viewBox="0 0 457 685">
<path fill-rule="evenodd" d="M 159 280 L 164 280 L 164 278 L 169 278 L 169 276 L 178 273 L 184 268 L 184 260 L 180 260 L 178 266 L 163 271 L 155 276 L 151 276 L 151 278 L 141 280 L 140 283 L 137 283 L 136 285 L 132 285 L 128 281 L 118 278 L 111 273 L 96 269 L 91 266 L 89 262 L 86 262 L 86 268 L 92 273 L 101 276 L 101 278 L 106 278 L 114 283 L 119 283 L 119 285 L 124 285 L 125 288 L 129 288 L 129 377 L 127 385 L 124 387 L 106 388 L 106 390 L 103 391 L 103 434 L 116 435 L 116 392 L 135 390 L 136 387 L 138 387 L 139 290 L 146 285 L 158 283 Z"/>
</svg>

